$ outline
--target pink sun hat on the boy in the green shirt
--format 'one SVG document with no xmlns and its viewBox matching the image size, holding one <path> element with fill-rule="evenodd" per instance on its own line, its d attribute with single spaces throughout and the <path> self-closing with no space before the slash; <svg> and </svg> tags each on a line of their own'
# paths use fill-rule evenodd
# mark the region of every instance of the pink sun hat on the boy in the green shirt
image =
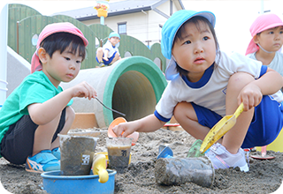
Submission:
<svg viewBox="0 0 283 194">
<path fill-rule="evenodd" d="M 39 61 L 39 57 L 37 54 L 38 48 L 40 48 L 40 45 L 42 41 L 50 36 L 51 34 L 55 33 L 70 33 L 79 36 L 84 45 L 87 47 L 88 46 L 88 40 L 85 38 L 85 36 L 81 33 L 80 29 L 77 28 L 76 26 L 73 26 L 73 24 L 69 22 L 61 22 L 61 23 L 54 23 L 45 26 L 42 29 L 42 33 L 39 34 L 39 38 L 36 44 L 36 50 L 34 52 L 34 56 L 32 57 L 32 63 L 31 63 L 31 73 L 34 71 L 42 71 L 42 64 Z"/>
</svg>

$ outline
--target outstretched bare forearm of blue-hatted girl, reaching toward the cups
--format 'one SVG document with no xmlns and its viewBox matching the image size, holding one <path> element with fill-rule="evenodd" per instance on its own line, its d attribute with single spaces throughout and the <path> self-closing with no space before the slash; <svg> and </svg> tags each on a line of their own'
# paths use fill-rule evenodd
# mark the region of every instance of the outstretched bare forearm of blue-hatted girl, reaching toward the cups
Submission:
<svg viewBox="0 0 283 194">
<path fill-rule="evenodd" d="M 113 128 L 113 131 L 116 133 L 118 137 L 126 137 L 132 134 L 134 131 L 139 131 L 139 132 L 157 131 L 158 129 L 164 126 L 164 123 L 165 122 L 158 120 L 156 116 L 149 115 L 133 122 L 120 123 L 118 126 L 115 126 Z M 122 134 L 123 131 L 124 133 Z"/>
</svg>

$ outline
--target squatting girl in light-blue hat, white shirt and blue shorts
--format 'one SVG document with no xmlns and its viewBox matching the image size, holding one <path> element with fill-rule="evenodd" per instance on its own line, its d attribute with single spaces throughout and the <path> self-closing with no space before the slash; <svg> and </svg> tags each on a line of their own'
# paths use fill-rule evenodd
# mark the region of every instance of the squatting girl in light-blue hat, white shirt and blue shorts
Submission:
<svg viewBox="0 0 283 194">
<path fill-rule="evenodd" d="M 119 123 L 113 131 L 126 137 L 134 131 L 157 131 L 171 117 L 196 139 L 205 138 L 243 102 L 237 123 L 205 155 L 214 168 L 249 171 L 242 148 L 271 143 L 282 128 L 283 108 L 269 94 L 283 86 L 278 72 L 262 63 L 219 50 L 215 16 L 209 11 L 176 11 L 162 28 L 163 55 L 171 59 L 165 76 L 171 80 L 154 114 Z M 266 114 L 268 113 L 268 114 Z M 123 133 L 124 131 L 124 133 Z"/>
</svg>

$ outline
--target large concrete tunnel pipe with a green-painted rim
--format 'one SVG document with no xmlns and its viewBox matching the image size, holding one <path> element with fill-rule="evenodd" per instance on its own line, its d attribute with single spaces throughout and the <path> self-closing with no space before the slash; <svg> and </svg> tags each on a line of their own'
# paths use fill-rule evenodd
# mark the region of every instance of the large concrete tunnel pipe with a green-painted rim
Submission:
<svg viewBox="0 0 283 194">
<path fill-rule="evenodd" d="M 97 98 L 105 106 L 126 114 L 126 121 L 152 114 L 167 86 L 163 72 L 143 56 L 126 57 L 109 67 L 80 70 L 77 78 L 61 86 L 66 89 L 82 81 L 96 89 Z M 120 116 L 96 100 L 74 98 L 72 107 L 76 113 L 95 113 L 100 128 Z"/>
</svg>

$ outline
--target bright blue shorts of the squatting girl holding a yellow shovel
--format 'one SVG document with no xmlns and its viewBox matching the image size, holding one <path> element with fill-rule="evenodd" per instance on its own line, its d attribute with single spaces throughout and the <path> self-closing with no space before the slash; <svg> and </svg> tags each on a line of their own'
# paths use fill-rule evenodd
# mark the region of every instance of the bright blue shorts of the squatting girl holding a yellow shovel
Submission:
<svg viewBox="0 0 283 194">
<path fill-rule="evenodd" d="M 192 103 L 198 123 L 210 129 L 222 118 L 217 113 L 208 108 Z M 282 129 L 283 106 L 278 101 L 272 100 L 268 95 L 264 95 L 263 100 L 255 108 L 255 114 L 249 125 L 246 138 L 242 143 L 242 148 L 254 146 L 267 146 L 278 137 Z"/>
</svg>

